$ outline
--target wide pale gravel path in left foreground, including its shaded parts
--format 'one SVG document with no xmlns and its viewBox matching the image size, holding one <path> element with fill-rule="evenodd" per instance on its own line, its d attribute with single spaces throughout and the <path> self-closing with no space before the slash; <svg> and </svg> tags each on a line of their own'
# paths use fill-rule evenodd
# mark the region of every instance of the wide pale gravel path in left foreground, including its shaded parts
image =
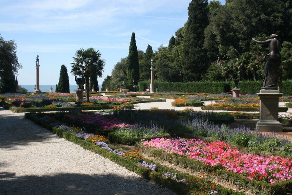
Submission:
<svg viewBox="0 0 292 195">
<path fill-rule="evenodd" d="M 175 194 L 0 108 L 0 194 Z"/>
</svg>

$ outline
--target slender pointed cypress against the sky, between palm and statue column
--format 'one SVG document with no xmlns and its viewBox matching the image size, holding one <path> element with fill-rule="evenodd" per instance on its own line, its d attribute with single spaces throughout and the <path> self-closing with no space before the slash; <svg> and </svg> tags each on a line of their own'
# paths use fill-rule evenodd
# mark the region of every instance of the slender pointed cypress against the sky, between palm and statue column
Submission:
<svg viewBox="0 0 292 195">
<path fill-rule="evenodd" d="M 127 67 L 127 79 L 128 83 L 138 84 L 140 79 L 139 76 L 139 60 L 138 60 L 138 49 L 136 46 L 135 33 L 132 33 L 129 54 L 126 59 L 126 67 Z"/>
</svg>

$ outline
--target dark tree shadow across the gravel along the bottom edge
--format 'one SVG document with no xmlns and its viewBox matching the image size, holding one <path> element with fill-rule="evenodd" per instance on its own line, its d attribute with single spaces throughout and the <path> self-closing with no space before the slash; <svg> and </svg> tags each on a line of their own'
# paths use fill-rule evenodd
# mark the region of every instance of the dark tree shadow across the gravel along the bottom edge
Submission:
<svg viewBox="0 0 292 195">
<path fill-rule="evenodd" d="M 140 180 L 143 180 L 141 182 Z M 152 193 L 154 191 L 154 193 Z M 60 173 L 44 176 L 17 177 L 14 173 L 0 173 L 1 195 L 39 194 L 175 194 L 146 179 L 121 177 L 115 174 L 84 175 Z"/>
</svg>

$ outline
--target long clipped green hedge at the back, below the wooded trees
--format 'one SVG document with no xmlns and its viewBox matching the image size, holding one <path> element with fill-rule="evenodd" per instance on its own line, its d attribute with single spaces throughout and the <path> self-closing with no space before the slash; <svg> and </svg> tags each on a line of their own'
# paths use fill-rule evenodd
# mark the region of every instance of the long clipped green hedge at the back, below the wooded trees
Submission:
<svg viewBox="0 0 292 195">
<path fill-rule="evenodd" d="M 260 92 L 262 81 L 239 81 L 238 88 L 240 94 L 255 94 Z M 141 81 L 138 83 L 139 91 L 144 91 L 150 86 L 149 81 Z M 205 81 L 205 82 L 190 82 L 190 83 L 166 83 L 154 82 L 154 89 L 158 91 L 180 91 L 187 93 L 226 93 L 230 92 L 235 87 L 233 81 Z M 281 93 L 284 95 L 292 95 L 292 80 L 282 81 Z"/>
</svg>

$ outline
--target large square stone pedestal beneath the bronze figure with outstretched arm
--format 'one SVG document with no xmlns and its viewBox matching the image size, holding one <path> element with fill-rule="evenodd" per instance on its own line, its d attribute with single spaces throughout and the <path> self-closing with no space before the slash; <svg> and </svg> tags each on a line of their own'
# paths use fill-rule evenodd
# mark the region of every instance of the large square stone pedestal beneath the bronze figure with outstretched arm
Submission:
<svg viewBox="0 0 292 195">
<path fill-rule="evenodd" d="M 283 93 L 279 90 L 260 90 L 260 120 L 256 124 L 257 131 L 282 132 L 282 124 L 278 121 L 279 97 Z"/>
</svg>

